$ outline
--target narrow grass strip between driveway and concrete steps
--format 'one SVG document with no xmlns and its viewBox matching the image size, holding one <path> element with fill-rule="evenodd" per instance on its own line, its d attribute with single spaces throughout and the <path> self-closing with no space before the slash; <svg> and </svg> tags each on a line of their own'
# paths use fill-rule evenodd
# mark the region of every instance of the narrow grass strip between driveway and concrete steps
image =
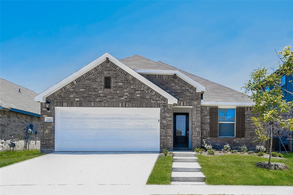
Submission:
<svg viewBox="0 0 293 195">
<path fill-rule="evenodd" d="M 147 184 L 171 184 L 172 156 L 159 156 Z"/>
</svg>

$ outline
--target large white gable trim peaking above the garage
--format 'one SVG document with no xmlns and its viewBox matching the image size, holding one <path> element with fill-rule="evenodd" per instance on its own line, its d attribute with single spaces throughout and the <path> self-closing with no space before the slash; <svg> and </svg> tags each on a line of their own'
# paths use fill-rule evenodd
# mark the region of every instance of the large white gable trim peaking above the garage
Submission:
<svg viewBox="0 0 293 195">
<path fill-rule="evenodd" d="M 166 91 L 164 91 L 163 89 L 161 89 L 160 87 L 158 87 L 157 85 L 155 85 L 154 83 L 149 81 L 147 78 L 144 78 L 139 73 L 135 72 L 134 70 L 132 70 L 131 68 L 129 68 L 128 66 L 123 64 L 121 61 L 117 60 L 115 57 L 113 57 L 109 53 L 103 54 L 102 56 L 98 57 L 97 59 L 95 59 L 91 63 L 87 64 L 83 68 L 81 68 L 78 71 L 76 71 L 75 73 L 71 74 L 70 76 L 64 78 L 62 81 L 56 83 L 52 87 L 50 87 L 47 90 L 43 91 L 42 93 L 38 94 L 37 96 L 35 96 L 35 101 L 45 102 L 47 96 L 49 96 L 52 93 L 56 92 L 57 90 L 59 90 L 60 88 L 64 87 L 65 85 L 67 85 L 71 81 L 74 81 L 76 78 L 80 77 L 81 75 L 83 75 L 84 73 L 86 73 L 89 70 L 93 69 L 94 67 L 98 66 L 103 61 L 105 61 L 107 57 L 114 64 L 116 64 L 117 66 L 119 66 L 120 68 L 122 68 L 126 72 L 130 73 L 135 78 L 137 78 L 139 81 L 142 81 L 144 84 L 146 84 L 147 86 L 149 86 L 150 88 L 154 89 L 156 92 L 160 93 L 165 98 L 167 98 L 168 99 L 168 104 L 177 103 L 177 99 L 175 97 L 173 97 L 171 94 L 167 93 Z"/>
</svg>

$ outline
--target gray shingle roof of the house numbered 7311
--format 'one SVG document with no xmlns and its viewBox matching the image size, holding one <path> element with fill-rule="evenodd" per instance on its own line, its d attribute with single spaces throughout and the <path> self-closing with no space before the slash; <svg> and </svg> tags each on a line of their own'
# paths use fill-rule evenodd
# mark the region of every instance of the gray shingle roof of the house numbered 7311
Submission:
<svg viewBox="0 0 293 195">
<path fill-rule="evenodd" d="M 130 56 L 120 60 L 123 64 L 131 69 L 155 69 L 155 70 L 178 70 L 186 76 L 190 77 L 197 83 L 200 83 L 205 87 L 205 93 L 203 94 L 204 101 L 214 102 L 252 102 L 248 95 L 243 95 L 241 92 L 226 87 L 224 85 L 214 83 L 205 78 L 201 78 L 194 74 L 190 74 L 186 71 L 180 70 L 174 66 L 168 65 L 161 61 L 153 61 L 142 57 L 140 55 Z"/>
</svg>

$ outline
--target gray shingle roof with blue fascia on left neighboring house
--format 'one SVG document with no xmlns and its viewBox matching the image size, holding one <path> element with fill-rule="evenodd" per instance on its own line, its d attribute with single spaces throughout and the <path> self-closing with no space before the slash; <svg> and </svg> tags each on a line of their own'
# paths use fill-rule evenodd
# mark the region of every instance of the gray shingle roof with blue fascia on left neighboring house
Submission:
<svg viewBox="0 0 293 195">
<path fill-rule="evenodd" d="M 40 103 L 34 101 L 34 97 L 36 95 L 37 93 L 32 90 L 0 78 L 1 110 L 11 110 L 25 114 L 40 115 Z"/>
</svg>

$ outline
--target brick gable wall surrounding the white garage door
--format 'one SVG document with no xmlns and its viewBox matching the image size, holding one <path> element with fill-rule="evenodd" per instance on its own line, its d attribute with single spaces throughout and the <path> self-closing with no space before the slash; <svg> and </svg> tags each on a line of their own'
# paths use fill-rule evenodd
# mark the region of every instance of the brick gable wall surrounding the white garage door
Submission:
<svg viewBox="0 0 293 195">
<path fill-rule="evenodd" d="M 104 76 L 111 76 L 111 89 L 104 89 Z M 173 105 L 167 99 L 110 62 L 99 64 L 47 97 L 50 111 L 41 103 L 41 151 L 54 151 L 54 107 L 159 107 L 160 148 L 173 148 Z M 44 122 L 53 117 L 53 122 Z"/>
</svg>

